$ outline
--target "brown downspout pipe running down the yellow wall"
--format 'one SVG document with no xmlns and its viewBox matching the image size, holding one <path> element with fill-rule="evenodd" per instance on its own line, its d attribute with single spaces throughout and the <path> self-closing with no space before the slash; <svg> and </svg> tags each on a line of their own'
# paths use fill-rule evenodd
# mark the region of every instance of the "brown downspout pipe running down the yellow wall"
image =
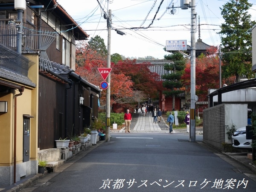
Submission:
<svg viewBox="0 0 256 192">
<path fill-rule="evenodd" d="M 13 183 L 16 183 L 16 151 L 17 151 L 17 148 L 16 148 L 16 145 L 17 145 L 17 96 L 21 96 L 22 93 L 24 92 L 24 87 L 25 86 L 22 86 L 19 91 L 20 93 L 19 94 L 16 94 L 14 96 L 14 157 L 13 157 Z"/>
</svg>

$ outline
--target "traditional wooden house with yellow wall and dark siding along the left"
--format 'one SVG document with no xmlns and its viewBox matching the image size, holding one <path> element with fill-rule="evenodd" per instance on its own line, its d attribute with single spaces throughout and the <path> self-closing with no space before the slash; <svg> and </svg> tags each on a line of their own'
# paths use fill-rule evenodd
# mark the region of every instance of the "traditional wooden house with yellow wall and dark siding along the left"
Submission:
<svg viewBox="0 0 256 192">
<path fill-rule="evenodd" d="M 88 37 L 55 0 L 0 0 L 0 185 L 37 174 L 38 149 L 98 117 L 101 90 L 75 73 Z"/>
</svg>

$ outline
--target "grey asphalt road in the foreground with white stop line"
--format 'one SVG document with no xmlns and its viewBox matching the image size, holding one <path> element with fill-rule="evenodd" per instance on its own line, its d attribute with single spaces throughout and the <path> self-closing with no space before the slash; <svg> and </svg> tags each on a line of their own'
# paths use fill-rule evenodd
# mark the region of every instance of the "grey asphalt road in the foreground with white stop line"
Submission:
<svg viewBox="0 0 256 192">
<path fill-rule="evenodd" d="M 253 174 L 207 149 L 202 136 L 111 133 L 23 192 L 252 192 Z M 243 169 L 241 172 L 239 170 Z"/>
</svg>

